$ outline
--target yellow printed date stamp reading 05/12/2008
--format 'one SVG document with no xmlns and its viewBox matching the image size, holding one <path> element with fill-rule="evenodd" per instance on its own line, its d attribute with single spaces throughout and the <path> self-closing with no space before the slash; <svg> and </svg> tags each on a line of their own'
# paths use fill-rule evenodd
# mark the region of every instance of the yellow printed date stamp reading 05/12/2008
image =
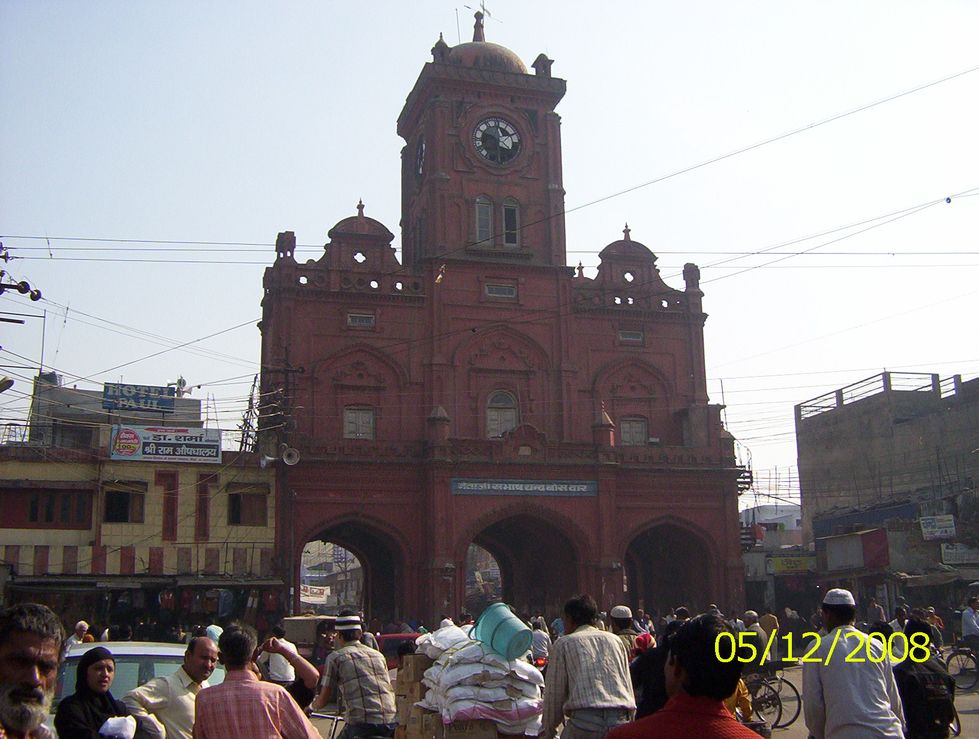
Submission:
<svg viewBox="0 0 979 739">
<path fill-rule="evenodd" d="M 843 644 L 839 644 L 842 635 Z M 820 651 L 823 640 L 828 639 L 828 635 L 819 634 L 815 631 L 807 631 L 802 635 L 799 651 L 793 647 L 792 634 L 778 636 L 772 632 L 765 645 L 761 644 L 758 634 L 754 631 L 741 631 L 734 634 L 725 631 L 717 635 L 714 640 L 714 656 L 718 662 L 733 662 L 738 660 L 745 664 L 764 665 L 772 658 L 772 650 L 778 646 L 780 654 L 777 659 L 781 662 L 822 662 L 828 665 L 833 655 L 836 653 L 837 646 L 843 654 L 844 662 L 903 662 L 910 659 L 912 662 L 925 662 L 931 657 L 932 652 L 929 648 L 930 640 L 926 634 L 915 633 L 910 637 L 902 631 L 895 631 L 885 638 L 882 633 L 871 632 L 865 634 L 862 631 L 850 631 L 843 633 L 836 629 L 829 650 L 825 655 L 816 654 Z M 880 647 L 871 648 L 871 644 L 876 641 Z M 779 642 L 776 645 L 776 642 Z M 783 647 L 784 645 L 784 647 Z"/>
</svg>

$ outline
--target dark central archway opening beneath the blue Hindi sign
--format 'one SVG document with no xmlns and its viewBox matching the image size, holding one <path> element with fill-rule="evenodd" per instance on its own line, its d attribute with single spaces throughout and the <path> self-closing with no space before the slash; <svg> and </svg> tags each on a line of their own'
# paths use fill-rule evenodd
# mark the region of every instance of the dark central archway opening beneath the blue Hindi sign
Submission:
<svg viewBox="0 0 979 739">
<path fill-rule="evenodd" d="M 474 526 L 461 552 L 470 567 L 471 545 L 488 552 L 499 569 L 498 588 L 486 589 L 482 595 L 473 595 L 470 589 L 466 607 L 474 614 L 499 599 L 523 617 L 553 618 L 580 590 L 579 547 L 553 517 L 517 509 Z M 467 572 L 466 580 L 474 576 Z"/>
</svg>

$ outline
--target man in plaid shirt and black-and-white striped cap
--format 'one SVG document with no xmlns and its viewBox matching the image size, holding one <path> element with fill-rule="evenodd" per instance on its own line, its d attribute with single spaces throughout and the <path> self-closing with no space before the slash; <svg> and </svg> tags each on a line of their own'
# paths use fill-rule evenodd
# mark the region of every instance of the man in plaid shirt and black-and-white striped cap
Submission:
<svg viewBox="0 0 979 739">
<path fill-rule="evenodd" d="M 363 625 L 359 616 L 337 616 L 336 631 L 340 647 L 323 664 L 323 690 L 310 709 L 319 710 L 339 692 L 346 724 L 339 739 L 394 736 L 397 709 L 387 660 L 360 643 Z"/>
</svg>

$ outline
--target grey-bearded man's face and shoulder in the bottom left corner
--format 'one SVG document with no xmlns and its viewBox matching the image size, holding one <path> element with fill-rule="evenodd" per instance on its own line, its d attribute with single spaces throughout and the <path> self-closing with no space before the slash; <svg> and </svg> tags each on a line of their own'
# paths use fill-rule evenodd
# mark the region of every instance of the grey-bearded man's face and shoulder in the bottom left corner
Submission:
<svg viewBox="0 0 979 739">
<path fill-rule="evenodd" d="M 22 603 L 0 611 L 0 739 L 52 739 L 51 710 L 65 632 L 50 609 Z"/>
</svg>

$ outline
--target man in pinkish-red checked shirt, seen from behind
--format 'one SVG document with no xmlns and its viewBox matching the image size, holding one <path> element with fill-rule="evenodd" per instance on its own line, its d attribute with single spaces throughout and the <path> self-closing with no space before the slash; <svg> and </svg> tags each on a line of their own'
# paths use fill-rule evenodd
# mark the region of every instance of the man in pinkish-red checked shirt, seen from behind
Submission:
<svg viewBox="0 0 979 739">
<path fill-rule="evenodd" d="M 252 671 L 258 636 L 251 626 L 221 632 L 218 649 L 227 674 L 197 694 L 194 739 L 321 739 L 292 697 Z"/>
</svg>

